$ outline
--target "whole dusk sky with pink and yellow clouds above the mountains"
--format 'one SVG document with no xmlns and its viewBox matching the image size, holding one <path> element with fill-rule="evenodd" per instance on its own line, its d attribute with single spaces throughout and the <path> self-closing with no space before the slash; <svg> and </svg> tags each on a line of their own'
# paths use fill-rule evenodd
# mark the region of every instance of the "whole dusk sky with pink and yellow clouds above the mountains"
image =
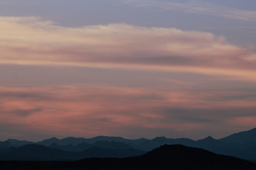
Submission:
<svg viewBox="0 0 256 170">
<path fill-rule="evenodd" d="M 0 0 L 0 140 L 255 128 L 255 30 L 255 0 Z"/>
</svg>

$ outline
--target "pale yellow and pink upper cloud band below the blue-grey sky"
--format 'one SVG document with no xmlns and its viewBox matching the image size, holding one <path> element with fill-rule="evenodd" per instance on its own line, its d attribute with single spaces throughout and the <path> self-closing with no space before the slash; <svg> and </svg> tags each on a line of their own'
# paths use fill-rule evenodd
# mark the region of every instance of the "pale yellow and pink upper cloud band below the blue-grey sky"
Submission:
<svg viewBox="0 0 256 170">
<path fill-rule="evenodd" d="M 41 18 L 0 17 L 2 64 L 196 72 L 255 81 L 255 53 L 222 36 L 125 23 L 65 28 Z"/>
</svg>

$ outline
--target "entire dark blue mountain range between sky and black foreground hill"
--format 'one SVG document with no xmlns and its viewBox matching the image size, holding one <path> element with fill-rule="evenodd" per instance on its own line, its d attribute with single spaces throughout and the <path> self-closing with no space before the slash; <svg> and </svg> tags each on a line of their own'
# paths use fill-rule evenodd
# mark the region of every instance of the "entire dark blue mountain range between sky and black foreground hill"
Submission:
<svg viewBox="0 0 256 170">
<path fill-rule="evenodd" d="M 90 139 L 66 137 L 62 140 L 53 137 L 41 142 L 10 139 L 0 142 L 0 160 L 75 160 L 86 157 L 132 157 L 149 152 L 161 145 L 185 145 L 207 149 L 216 154 L 256 160 L 256 128 L 238 132 L 219 140 L 210 136 L 202 140 L 166 137 L 156 137 L 153 140 L 145 138 L 129 140 L 122 137 L 106 136 Z M 28 157 L 24 157 L 24 155 L 28 155 Z M 65 155 L 68 156 L 65 157 Z"/>
</svg>

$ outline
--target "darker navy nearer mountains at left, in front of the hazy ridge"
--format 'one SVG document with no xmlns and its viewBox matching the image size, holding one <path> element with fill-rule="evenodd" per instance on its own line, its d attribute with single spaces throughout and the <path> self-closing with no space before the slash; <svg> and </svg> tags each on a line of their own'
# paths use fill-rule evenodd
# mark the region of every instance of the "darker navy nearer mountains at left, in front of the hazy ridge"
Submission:
<svg viewBox="0 0 256 170">
<path fill-rule="evenodd" d="M 0 159 L 4 161 L 73 161 L 87 157 L 132 157 L 144 153 L 144 151 L 132 148 L 110 149 L 101 147 L 90 147 L 82 152 L 65 152 L 61 149 L 29 144 L 4 150 L 0 153 Z"/>
</svg>

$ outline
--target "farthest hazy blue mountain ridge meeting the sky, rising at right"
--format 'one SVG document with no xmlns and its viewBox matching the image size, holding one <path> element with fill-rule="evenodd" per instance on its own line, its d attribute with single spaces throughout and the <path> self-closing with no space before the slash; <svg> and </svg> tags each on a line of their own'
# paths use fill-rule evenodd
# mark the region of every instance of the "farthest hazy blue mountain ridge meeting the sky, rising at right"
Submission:
<svg viewBox="0 0 256 170">
<path fill-rule="evenodd" d="M 61 140 L 53 137 L 41 142 L 6 140 L 0 142 L 0 152 L 11 147 L 17 148 L 30 144 L 43 145 L 51 149 L 60 149 L 64 152 L 83 152 L 86 149 L 93 147 L 115 150 L 135 149 L 137 151 L 148 152 L 161 145 L 185 145 L 188 147 L 207 149 L 210 152 L 217 154 L 226 154 L 242 159 L 256 160 L 256 128 L 238 132 L 219 140 L 210 136 L 202 140 L 191 140 L 188 138 L 171 139 L 166 137 L 155 137 L 153 140 L 145 138 L 129 140 L 124 139 L 123 137 L 107 136 L 98 136 L 89 139 L 82 137 L 65 137 Z"/>
</svg>

